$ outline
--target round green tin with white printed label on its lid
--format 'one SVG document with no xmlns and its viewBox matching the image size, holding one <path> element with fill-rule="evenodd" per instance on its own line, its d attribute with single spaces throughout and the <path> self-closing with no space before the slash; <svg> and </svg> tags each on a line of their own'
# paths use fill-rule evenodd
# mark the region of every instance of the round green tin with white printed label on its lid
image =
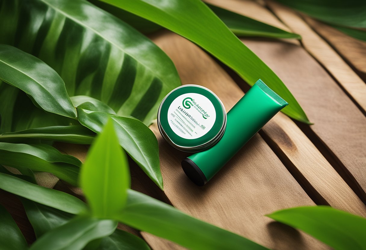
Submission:
<svg viewBox="0 0 366 250">
<path fill-rule="evenodd" d="M 183 85 L 171 91 L 160 104 L 158 128 L 173 147 L 197 152 L 212 147 L 226 127 L 226 112 L 220 99 L 208 88 Z"/>
</svg>

